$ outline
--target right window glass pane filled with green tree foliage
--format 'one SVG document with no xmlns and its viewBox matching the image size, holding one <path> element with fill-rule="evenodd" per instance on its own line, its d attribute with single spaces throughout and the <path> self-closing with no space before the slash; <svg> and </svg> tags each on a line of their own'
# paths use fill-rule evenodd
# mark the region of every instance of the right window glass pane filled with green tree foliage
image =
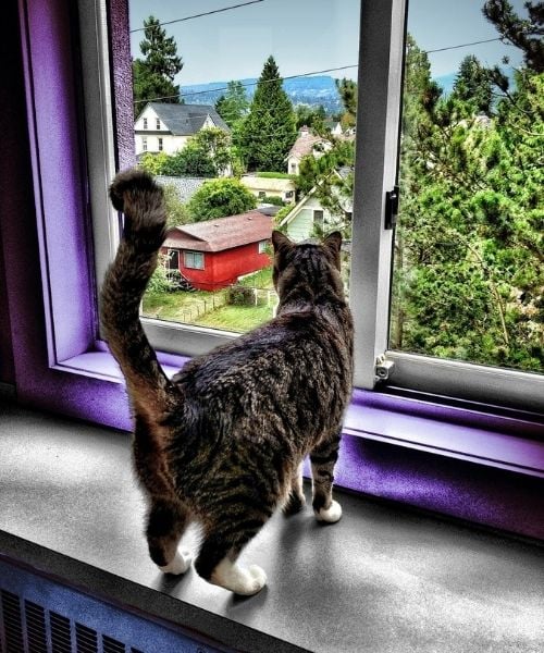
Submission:
<svg viewBox="0 0 544 653">
<path fill-rule="evenodd" d="M 390 347 L 542 372 L 544 62 L 510 3 L 409 3 Z"/>
</svg>

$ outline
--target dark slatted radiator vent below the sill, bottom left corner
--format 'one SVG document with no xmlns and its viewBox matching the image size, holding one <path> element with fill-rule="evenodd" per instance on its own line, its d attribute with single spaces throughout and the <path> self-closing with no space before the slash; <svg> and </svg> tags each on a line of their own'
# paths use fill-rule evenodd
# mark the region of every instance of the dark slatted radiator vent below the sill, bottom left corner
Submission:
<svg viewBox="0 0 544 653">
<path fill-rule="evenodd" d="M 144 653 L 7 590 L 0 599 L 1 653 Z"/>
</svg>

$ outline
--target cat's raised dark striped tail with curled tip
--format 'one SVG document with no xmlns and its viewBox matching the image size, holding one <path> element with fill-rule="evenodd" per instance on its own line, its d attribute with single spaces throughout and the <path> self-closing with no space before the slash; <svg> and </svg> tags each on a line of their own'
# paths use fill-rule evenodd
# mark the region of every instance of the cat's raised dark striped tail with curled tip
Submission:
<svg viewBox="0 0 544 653">
<path fill-rule="evenodd" d="M 136 412 L 168 408 L 178 391 L 164 374 L 139 320 L 139 305 L 157 268 L 165 236 L 162 188 L 144 171 L 115 176 L 110 198 L 125 214 L 124 233 L 101 292 L 101 320 L 111 353 L 121 366 Z"/>
</svg>

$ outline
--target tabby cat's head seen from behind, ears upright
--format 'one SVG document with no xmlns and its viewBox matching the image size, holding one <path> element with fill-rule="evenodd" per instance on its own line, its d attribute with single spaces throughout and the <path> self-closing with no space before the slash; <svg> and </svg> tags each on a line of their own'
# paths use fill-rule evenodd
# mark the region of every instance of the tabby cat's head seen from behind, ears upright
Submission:
<svg viewBox="0 0 544 653">
<path fill-rule="evenodd" d="M 272 232 L 274 269 L 272 279 L 280 301 L 298 292 L 309 299 L 324 295 L 344 298 L 341 276 L 342 234 L 333 232 L 321 245 L 295 244 L 279 231 Z"/>
</svg>

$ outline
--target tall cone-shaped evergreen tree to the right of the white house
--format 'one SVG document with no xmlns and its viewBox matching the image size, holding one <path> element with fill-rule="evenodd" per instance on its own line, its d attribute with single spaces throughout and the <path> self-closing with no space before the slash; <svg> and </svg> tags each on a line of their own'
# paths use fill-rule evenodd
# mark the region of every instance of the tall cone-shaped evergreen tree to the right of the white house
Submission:
<svg viewBox="0 0 544 653">
<path fill-rule="evenodd" d="M 273 57 L 269 57 L 257 84 L 242 132 L 242 153 L 249 170 L 275 171 L 296 140 L 295 113 Z"/>
</svg>

